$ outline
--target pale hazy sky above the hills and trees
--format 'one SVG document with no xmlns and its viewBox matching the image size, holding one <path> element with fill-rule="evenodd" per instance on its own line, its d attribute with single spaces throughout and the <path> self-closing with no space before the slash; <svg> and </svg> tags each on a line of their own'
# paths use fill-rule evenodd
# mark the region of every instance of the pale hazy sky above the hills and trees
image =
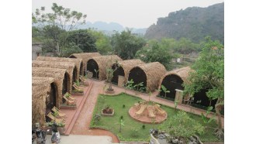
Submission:
<svg viewBox="0 0 256 144">
<path fill-rule="evenodd" d="M 87 15 L 86 21 L 118 22 L 124 27 L 147 28 L 169 12 L 192 6 L 207 7 L 224 0 L 32 0 L 32 12 L 52 3 Z"/>
</svg>

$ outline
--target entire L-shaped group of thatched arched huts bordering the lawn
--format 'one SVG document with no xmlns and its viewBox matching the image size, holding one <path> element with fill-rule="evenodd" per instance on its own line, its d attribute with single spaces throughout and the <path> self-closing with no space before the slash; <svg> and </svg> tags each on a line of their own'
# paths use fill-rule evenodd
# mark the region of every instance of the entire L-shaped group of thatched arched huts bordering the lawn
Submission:
<svg viewBox="0 0 256 144">
<path fill-rule="evenodd" d="M 167 71 L 158 62 L 144 63 L 141 60 L 122 60 L 116 55 L 101 56 L 99 53 L 74 53 L 69 58 L 37 57 L 32 61 L 33 86 L 33 124 L 47 122 L 47 111 L 56 106 L 60 108 L 64 103 L 62 96 L 72 91 L 72 85 L 79 81 L 79 75 L 91 72 L 93 78 L 106 79 L 106 67 L 119 67 L 113 74 L 112 83 L 118 84 L 122 77 L 123 84 L 134 81 L 134 84 L 143 82 L 147 91 L 155 91 L 164 85 L 170 91 L 168 98 L 175 98 L 175 90 L 184 90 L 183 82 L 189 76 L 189 67 Z M 122 85 L 123 85 L 122 84 Z M 164 95 L 161 91 L 160 95 Z M 194 101 L 201 101 L 201 105 L 208 106 L 209 99 L 206 91 L 195 94 Z M 212 102 L 212 105 L 214 103 Z"/>
</svg>

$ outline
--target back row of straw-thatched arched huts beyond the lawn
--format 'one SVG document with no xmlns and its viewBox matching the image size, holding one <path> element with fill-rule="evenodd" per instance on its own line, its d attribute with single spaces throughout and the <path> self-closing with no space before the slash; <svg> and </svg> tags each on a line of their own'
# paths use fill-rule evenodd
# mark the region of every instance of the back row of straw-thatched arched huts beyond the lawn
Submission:
<svg viewBox="0 0 256 144">
<path fill-rule="evenodd" d="M 167 71 L 165 67 L 158 62 L 144 63 L 141 60 L 122 60 L 116 55 L 101 56 L 99 53 L 74 53 L 71 58 L 82 59 L 84 71 L 92 73 L 93 78 L 99 80 L 106 79 L 106 67 L 116 68 L 116 62 L 119 63 L 119 67 L 113 74 L 112 83 L 118 84 L 119 78 L 122 78 L 119 86 L 126 84 L 127 81 L 133 80 L 134 84 L 143 82 L 148 91 L 155 91 L 159 89 L 161 85 L 167 88 L 170 93 L 166 96 L 169 99 L 175 99 L 175 90 L 183 91 L 182 86 L 184 81 L 187 81 L 189 77 L 190 67 L 182 67 L 177 70 Z M 215 105 L 216 101 L 209 101 L 206 97 L 207 90 L 199 91 L 194 94 L 192 103 L 200 101 L 199 105 L 209 106 Z M 164 95 L 164 91 L 160 92 L 160 95 Z"/>
</svg>

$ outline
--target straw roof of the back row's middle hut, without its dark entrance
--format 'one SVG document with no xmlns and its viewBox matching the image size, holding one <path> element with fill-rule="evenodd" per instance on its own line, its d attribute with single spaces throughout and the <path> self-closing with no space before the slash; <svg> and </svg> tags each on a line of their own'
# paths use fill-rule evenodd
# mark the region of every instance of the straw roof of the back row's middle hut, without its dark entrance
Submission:
<svg viewBox="0 0 256 144">
<path fill-rule="evenodd" d="M 161 77 L 166 73 L 164 65 L 159 62 L 144 63 L 134 66 L 133 68 L 135 67 L 144 70 L 144 73 L 147 75 L 147 92 L 155 91 L 158 88 Z"/>
</svg>

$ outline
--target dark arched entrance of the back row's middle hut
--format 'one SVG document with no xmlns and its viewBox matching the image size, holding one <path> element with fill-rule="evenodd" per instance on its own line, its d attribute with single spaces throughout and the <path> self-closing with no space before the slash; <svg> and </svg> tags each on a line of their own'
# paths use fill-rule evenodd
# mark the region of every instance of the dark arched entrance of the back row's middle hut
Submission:
<svg viewBox="0 0 256 144">
<path fill-rule="evenodd" d="M 143 82 L 143 87 L 147 87 L 147 75 L 145 74 L 144 70 L 140 69 L 140 67 L 135 67 L 130 70 L 128 81 L 131 81 L 132 79 L 134 81 L 134 85 Z"/>
</svg>

